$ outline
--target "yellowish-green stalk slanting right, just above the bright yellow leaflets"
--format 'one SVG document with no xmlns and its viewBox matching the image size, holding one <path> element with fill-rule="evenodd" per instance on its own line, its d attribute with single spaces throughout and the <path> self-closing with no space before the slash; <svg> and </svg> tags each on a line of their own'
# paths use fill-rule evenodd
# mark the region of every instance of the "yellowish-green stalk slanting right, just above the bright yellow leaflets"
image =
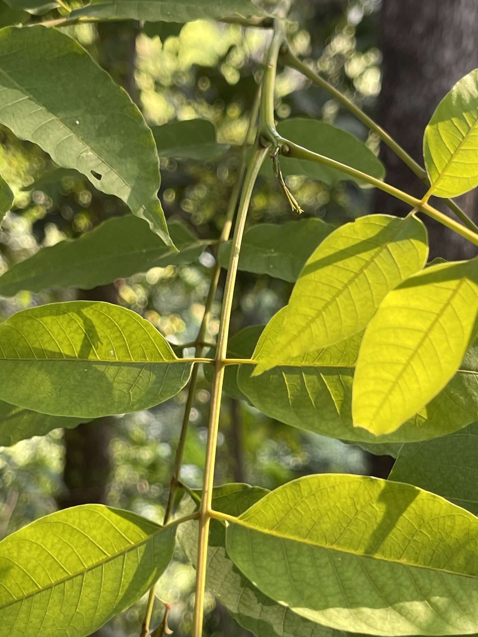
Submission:
<svg viewBox="0 0 478 637">
<path fill-rule="evenodd" d="M 307 161 L 313 161 L 317 164 L 323 164 L 324 166 L 330 166 L 330 168 L 335 168 L 336 170 L 340 170 L 342 173 L 346 175 L 350 175 L 351 177 L 358 178 L 363 182 L 370 183 L 375 188 L 379 188 L 380 190 L 384 190 L 393 197 L 397 199 L 401 199 L 405 203 L 412 206 L 412 208 L 418 208 L 419 211 L 424 212 L 429 217 L 435 219 L 435 221 L 440 222 L 440 224 L 445 225 L 450 230 L 460 234 L 462 237 L 474 243 L 474 245 L 478 245 L 478 234 L 474 233 L 474 231 L 468 229 L 464 225 L 458 224 L 456 221 L 447 217 L 439 210 L 433 208 L 428 203 L 424 203 L 420 201 L 420 199 L 416 199 L 416 197 L 412 197 L 411 195 L 403 192 L 403 190 L 399 190 L 388 183 L 382 182 L 379 179 L 367 175 L 366 173 L 362 173 L 355 168 L 351 168 L 351 166 L 347 166 L 346 164 L 341 164 L 334 159 L 330 159 L 329 157 L 324 157 L 324 155 L 319 155 L 318 153 L 312 152 L 312 150 L 307 150 L 307 148 L 302 148 L 293 142 L 286 140 L 285 138 L 280 138 L 280 143 L 282 143 L 281 152 L 282 155 L 286 157 L 294 157 L 295 159 L 306 159 Z"/>
</svg>

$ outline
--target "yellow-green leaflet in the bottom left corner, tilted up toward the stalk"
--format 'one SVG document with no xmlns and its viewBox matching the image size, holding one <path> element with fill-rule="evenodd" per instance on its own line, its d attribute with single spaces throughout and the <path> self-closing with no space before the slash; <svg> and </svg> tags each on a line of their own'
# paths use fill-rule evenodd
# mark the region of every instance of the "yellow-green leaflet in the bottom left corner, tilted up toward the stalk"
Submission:
<svg viewBox="0 0 478 637">
<path fill-rule="evenodd" d="M 85 637 L 126 610 L 173 556 L 175 527 L 83 505 L 0 542 L 0 636 Z"/>
</svg>

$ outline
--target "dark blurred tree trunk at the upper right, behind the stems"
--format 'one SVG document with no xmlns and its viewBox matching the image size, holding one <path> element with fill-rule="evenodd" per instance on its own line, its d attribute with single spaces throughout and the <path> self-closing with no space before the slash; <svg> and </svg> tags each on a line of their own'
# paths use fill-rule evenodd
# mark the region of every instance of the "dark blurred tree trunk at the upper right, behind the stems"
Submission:
<svg viewBox="0 0 478 637">
<path fill-rule="evenodd" d="M 423 132 L 442 97 L 463 75 L 478 67 L 476 0 L 384 0 L 380 15 L 383 52 L 382 92 L 377 119 L 423 165 Z M 391 150 L 382 145 L 387 181 L 415 196 L 426 188 Z M 431 203 L 447 211 L 438 199 Z M 474 190 L 457 199 L 478 221 Z M 409 208 L 378 191 L 375 212 L 404 213 Z M 449 213 L 452 214 L 452 213 Z M 426 220 L 430 255 L 463 259 L 475 247 L 441 224 Z"/>
</svg>

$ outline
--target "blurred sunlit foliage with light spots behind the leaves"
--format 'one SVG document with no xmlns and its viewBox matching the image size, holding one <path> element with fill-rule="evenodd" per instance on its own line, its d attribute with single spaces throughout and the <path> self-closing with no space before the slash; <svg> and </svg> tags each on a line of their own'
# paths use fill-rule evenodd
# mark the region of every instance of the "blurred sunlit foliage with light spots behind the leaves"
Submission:
<svg viewBox="0 0 478 637">
<path fill-rule="evenodd" d="M 385 4 L 400 2 L 384 0 Z M 0 24 L 6 10 L 0 3 Z M 381 10 L 380 0 L 296 0 L 288 27 L 294 52 L 372 115 L 379 110 L 382 77 Z M 59 15 L 61 9 L 41 16 L 24 13 L 18 21 Z M 476 20 L 478 25 L 478 17 Z M 214 160 L 161 159 L 161 200 L 168 220 L 181 220 L 201 239 L 217 238 L 238 169 L 236 147 L 245 136 L 270 32 L 212 22 L 115 22 L 69 26 L 64 31 L 129 92 L 150 125 L 205 118 L 215 125 L 217 140 L 231 145 Z M 351 132 L 379 153 L 375 136 L 296 71 L 280 69 L 275 97 L 279 120 L 319 118 Z M 430 104 L 430 114 L 434 106 Z M 41 247 L 76 238 L 105 218 L 127 213 L 119 199 L 94 190 L 74 171 L 55 170 L 40 148 L 17 140 L 7 129 L 0 129 L 0 173 L 15 193 L 14 207 L 0 231 L 0 272 Z M 373 208 L 373 190 L 352 183 L 328 187 L 293 176 L 287 178 L 287 185 L 303 208 L 303 217 L 320 217 L 339 225 L 378 211 Z M 260 178 L 248 224 L 281 224 L 294 215 L 277 182 Z M 196 338 L 213 265 L 214 257 L 206 249 L 194 264 L 152 268 L 117 280 L 107 289 L 0 297 L 0 319 L 37 304 L 102 298 L 140 313 L 173 345 L 180 346 Z M 268 276 L 240 272 L 231 333 L 266 323 L 286 304 L 291 287 Z M 220 299 L 218 294 L 208 341 L 217 335 Z M 186 395 L 187 388 L 147 412 L 101 419 L 66 433 L 56 430 L 43 438 L 0 447 L 1 535 L 59 506 L 82 501 L 104 501 L 161 522 Z M 201 376 L 181 476 L 191 487 L 201 485 L 209 401 L 210 383 Z M 217 483 L 243 481 L 273 489 L 308 473 L 386 475 L 391 466 L 387 458 L 377 459 L 358 447 L 300 432 L 228 397 L 222 408 L 218 445 Z M 193 587 L 194 570 L 178 548 L 158 587 L 159 597 L 172 606 L 170 627 L 178 636 L 191 629 Z M 144 605 L 143 599 L 97 634 L 137 635 Z M 214 598 L 209 597 L 207 605 L 206 634 L 249 634 L 229 619 Z M 158 601 L 155 625 L 163 608 Z"/>
</svg>

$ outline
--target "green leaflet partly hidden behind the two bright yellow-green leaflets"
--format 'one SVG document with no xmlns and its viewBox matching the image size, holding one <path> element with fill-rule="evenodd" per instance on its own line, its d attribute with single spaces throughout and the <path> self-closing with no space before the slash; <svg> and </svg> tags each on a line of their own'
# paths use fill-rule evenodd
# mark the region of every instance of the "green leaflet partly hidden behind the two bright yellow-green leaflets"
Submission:
<svg viewBox="0 0 478 637">
<path fill-rule="evenodd" d="M 275 347 L 285 308 L 268 323 L 252 358 L 261 361 Z M 261 412 L 298 429 L 350 443 L 402 443 L 443 436 L 476 420 L 478 340 L 458 371 L 433 400 L 400 429 L 375 436 L 352 425 L 352 380 L 361 334 L 342 343 L 284 361 L 261 376 L 251 365 L 238 369 L 238 387 Z"/>
</svg>

